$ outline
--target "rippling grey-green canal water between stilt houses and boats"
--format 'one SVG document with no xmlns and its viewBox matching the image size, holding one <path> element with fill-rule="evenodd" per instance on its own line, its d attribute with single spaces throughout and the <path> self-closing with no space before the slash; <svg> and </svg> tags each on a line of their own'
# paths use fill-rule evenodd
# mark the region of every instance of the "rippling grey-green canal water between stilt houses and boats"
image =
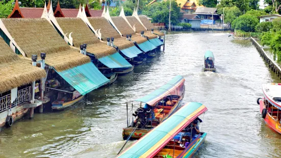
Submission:
<svg viewBox="0 0 281 158">
<path fill-rule="evenodd" d="M 265 125 L 256 102 L 262 84 L 280 81 L 250 41 L 228 35 L 167 35 L 165 52 L 118 76 L 110 87 L 63 112 L 35 114 L 2 131 L 0 157 L 114 157 L 124 144 L 124 102 L 178 74 L 186 80 L 183 102 L 198 101 L 209 109 L 200 117 L 200 130 L 208 135 L 195 157 L 281 157 L 281 136 Z M 206 50 L 214 52 L 216 73 L 202 72 Z"/>
</svg>

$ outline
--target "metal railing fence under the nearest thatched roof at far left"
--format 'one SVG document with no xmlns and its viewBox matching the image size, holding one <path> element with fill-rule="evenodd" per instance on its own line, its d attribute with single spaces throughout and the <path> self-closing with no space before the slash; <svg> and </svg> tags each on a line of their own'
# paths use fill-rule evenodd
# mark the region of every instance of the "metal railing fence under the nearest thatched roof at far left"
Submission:
<svg viewBox="0 0 281 158">
<path fill-rule="evenodd" d="M 0 97 L 0 113 L 17 106 L 20 103 L 29 101 L 31 98 L 31 87 L 17 91 L 15 101 L 11 102 L 11 94 Z"/>
</svg>

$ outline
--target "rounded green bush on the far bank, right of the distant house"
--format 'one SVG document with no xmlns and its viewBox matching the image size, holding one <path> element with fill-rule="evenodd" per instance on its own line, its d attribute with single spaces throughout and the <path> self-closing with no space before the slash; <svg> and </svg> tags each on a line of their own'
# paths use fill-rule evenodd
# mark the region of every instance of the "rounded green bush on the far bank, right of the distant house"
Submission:
<svg viewBox="0 0 281 158">
<path fill-rule="evenodd" d="M 232 22 L 232 28 L 244 32 L 254 32 L 259 19 L 252 15 L 241 15 Z"/>
</svg>

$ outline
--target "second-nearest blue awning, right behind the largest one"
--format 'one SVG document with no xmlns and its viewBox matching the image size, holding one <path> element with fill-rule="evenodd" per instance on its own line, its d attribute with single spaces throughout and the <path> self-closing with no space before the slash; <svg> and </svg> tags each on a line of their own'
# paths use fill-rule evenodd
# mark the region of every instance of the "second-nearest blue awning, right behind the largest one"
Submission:
<svg viewBox="0 0 281 158">
<path fill-rule="evenodd" d="M 101 63 L 106 65 L 109 68 L 125 68 L 125 67 L 132 67 L 132 65 L 127 62 L 119 52 L 116 52 L 113 55 L 109 55 L 103 58 L 98 59 Z"/>
</svg>

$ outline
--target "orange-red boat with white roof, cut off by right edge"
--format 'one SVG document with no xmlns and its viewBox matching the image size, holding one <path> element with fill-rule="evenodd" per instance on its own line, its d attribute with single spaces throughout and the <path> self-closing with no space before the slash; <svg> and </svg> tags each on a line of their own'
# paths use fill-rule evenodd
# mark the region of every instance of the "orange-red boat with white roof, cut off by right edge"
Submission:
<svg viewBox="0 0 281 158">
<path fill-rule="evenodd" d="M 260 111 L 265 123 L 281 134 L 281 84 L 262 86 L 264 98 L 258 98 Z"/>
</svg>

